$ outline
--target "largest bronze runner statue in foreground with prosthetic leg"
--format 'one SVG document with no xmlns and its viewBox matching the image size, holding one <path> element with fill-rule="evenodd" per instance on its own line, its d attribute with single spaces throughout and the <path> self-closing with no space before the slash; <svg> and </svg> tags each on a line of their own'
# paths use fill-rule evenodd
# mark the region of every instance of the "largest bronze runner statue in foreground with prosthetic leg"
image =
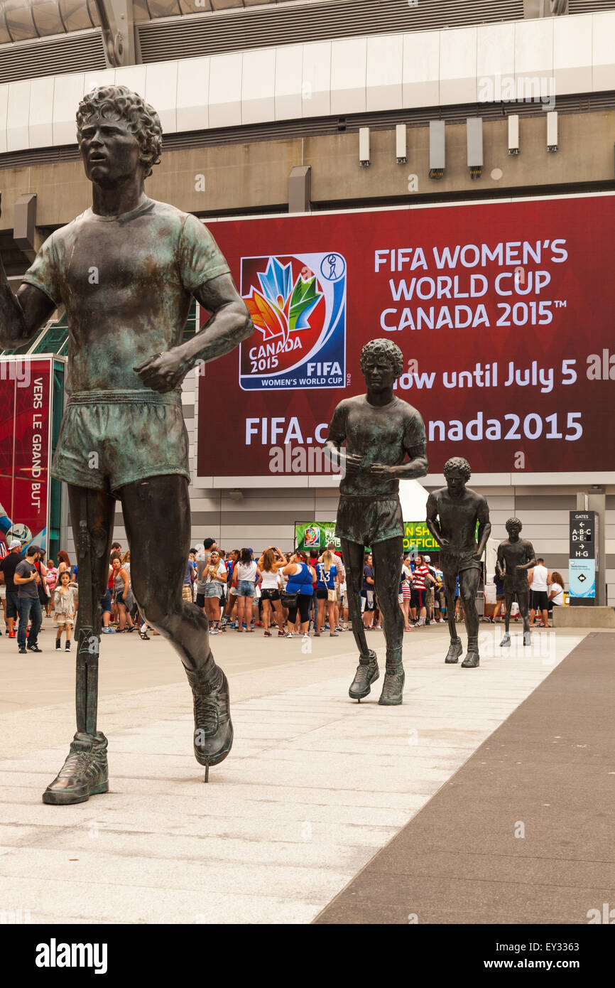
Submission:
<svg viewBox="0 0 615 988">
<path fill-rule="evenodd" d="M 228 683 L 207 618 L 182 600 L 191 473 L 181 384 L 254 329 L 207 228 L 144 192 L 161 151 L 156 111 L 125 86 L 99 87 L 79 104 L 77 139 L 92 207 L 44 242 L 17 296 L 0 270 L 3 346 L 27 343 L 60 304 L 68 317 L 69 400 L 51 472 L 68 484 L 79 565 L 77 733 L 42 796 L 55 804 L 109 788 L 98 654 L 117 500 L 141 615 L 179 653 L 192 687 L 196 760 L 208 773 L 230 751 Z M 192 295 L 211 317 L 184 342 Z"/>
</svg>

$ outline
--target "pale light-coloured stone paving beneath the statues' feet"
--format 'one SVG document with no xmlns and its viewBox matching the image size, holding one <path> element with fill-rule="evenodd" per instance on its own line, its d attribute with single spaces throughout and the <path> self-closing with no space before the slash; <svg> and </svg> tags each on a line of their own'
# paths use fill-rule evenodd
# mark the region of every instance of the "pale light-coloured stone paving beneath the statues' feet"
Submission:
<svg viewBox="0 0 615 988">
<path fill-rule="evenodd" d="M 74 656 L 24 663 L 0 639 L 2 901 L 36 923 L 308 923 L 581 637 L 558 632 L 549 664 L 522 653 L 460 671 L 443 665 L 443 629 L 408 635 L 405 702 L 383 708 L 381 682 L 360 705 L 347 698 L 349 635 L 312 640 L 307 655 L 300 639 L 219 635 L 236 742 L 204 786 L 177 656 L 159 637 L 110 635 L 99 722 L 111 791 L 72 807 L 40 793 L 74 731 Z"/>
</svg>

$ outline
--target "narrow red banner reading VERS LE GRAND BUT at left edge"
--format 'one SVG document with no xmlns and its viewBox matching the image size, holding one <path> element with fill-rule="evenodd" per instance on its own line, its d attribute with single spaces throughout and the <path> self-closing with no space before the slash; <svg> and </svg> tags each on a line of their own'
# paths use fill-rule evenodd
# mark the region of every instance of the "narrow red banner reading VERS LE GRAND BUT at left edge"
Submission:
<svg viewBox="0 0 615 988">
<path fill-rule="evenodd" d="M 46 546 L 51 361 L 0 361 L 0 535 Z"/>
</svg>

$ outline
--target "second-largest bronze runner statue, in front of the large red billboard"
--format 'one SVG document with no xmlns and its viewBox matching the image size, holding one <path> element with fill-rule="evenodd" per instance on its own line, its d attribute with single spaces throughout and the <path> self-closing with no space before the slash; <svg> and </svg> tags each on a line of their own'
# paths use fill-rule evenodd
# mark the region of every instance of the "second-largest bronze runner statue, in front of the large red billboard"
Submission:
<svg viewBox="0 0 615 988">
<path fill-rule="evenodd" d="M 359 651 L 348 696 L 362 700 L 379 676 L 376 653 L 367 647 L 360 609 L 364 547 L 369 545 L 374 590 L 387 643 L 386 671 L 378 702 L 392 706 L 402 702 L 405 681 L 404 617 L 398 603 L 404 549 L 399 482 L 425 475 L 426 442 L 420 413 L 393 390 L 404 370 L 400 348 L 391 340 L 372 340 L 361 350 L 360 368 L 367 393 L 340 402 L 325 444 L 328 455 L 345 471 L 336 534 L 342 542 L 348 613 Z"/>
</svg>

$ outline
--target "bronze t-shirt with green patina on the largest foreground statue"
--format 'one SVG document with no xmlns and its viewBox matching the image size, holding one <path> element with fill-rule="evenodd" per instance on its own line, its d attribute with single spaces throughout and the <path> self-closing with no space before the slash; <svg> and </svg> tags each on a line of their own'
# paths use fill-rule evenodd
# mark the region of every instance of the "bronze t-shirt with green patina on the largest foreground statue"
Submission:
<svg viewBox="0 0 615 988">
<path fill-rule="evenodd" d="M 140 391 L 132 368 L 181 343 L 192 292 L 228 272 L 200 220 L 145 199 L 120 216 L 86 209 L 55 230 L 24 281 L 66 309 L 69 393 Z"/>
</svg>

